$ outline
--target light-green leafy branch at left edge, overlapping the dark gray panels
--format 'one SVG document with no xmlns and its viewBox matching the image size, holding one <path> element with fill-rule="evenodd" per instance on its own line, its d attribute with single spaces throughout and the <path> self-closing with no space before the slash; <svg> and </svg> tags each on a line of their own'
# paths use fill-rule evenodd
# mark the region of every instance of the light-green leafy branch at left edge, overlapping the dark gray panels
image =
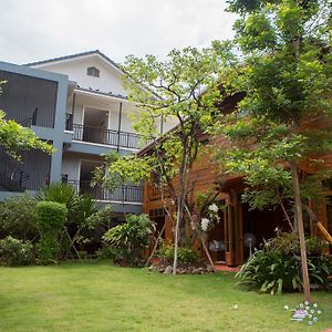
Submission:
<svg viewBox="0 0 332 332">
<path fill-rule="evenodd" d="M 39 139 L 30 129 L 22 127 L 13 120 L 6 120 L 6 113 L 0 111 L 0 146 L 4 147 L 9 155 L 20 158 L 22 149 L 41 149 L 51 155 L 53 147 Z"/>
</svg>

